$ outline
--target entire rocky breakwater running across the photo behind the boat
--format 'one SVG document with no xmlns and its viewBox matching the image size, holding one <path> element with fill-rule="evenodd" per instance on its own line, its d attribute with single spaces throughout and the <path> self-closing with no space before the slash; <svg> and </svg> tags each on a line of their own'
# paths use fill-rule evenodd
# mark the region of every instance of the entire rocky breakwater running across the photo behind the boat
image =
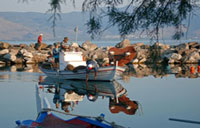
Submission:
<svg viewBox="0 0 200 128">
<path fill-rule="evenodd" d="M 83 52 L 86 58 L 95 58 L 103 62 L 108 59 L 109 49 L 111 47 L 125 48 L 133 46 L 137 52 L 136 58 L 130 63 L 134 64 L 198 64 L 200 63 L 200 43 L 188 42 L 179 45 L 167 45 L 163 43 L 154 43 L 145 45 L 144 43 L 132 44 L 125 39 L 115 46 L 97 47 L 90 41 L 82 45 L 72 43 L 72 48 Z M 38 50 L 36 44 L 18 44 L 13 45 L 7 42 L 0 42 L 0 64 L 38 64 L 46 61 L 52 54 L 54 45 L 42 44 Z"/>
</svg>

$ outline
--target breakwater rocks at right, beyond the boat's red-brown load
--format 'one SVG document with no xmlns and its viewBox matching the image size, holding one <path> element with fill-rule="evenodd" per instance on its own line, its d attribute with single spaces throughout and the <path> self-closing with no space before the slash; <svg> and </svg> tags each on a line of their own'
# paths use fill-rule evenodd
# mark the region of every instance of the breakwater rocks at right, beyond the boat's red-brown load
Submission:
<svg viewBox="0 0 200 128">
<path fill-rule="evenodd" d="M 200 63 L 200 43 L 189 42 L 170 46 L 162 43 L 144 45 L 133 44 L 137 57 L 133 63 L 168 63 L 168 64 L 197 64 Z"/>
</svg>

